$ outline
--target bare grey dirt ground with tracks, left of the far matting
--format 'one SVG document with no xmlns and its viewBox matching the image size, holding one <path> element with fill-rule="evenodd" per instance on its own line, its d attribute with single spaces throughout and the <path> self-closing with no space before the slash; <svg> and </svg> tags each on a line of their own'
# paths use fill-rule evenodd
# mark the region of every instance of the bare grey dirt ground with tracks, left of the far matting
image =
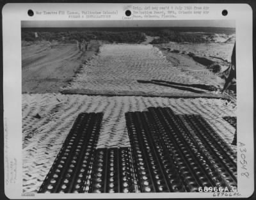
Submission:
<svg viewBox="0 0 256 200">
<path fill-rule="evenodd" d="M 101 44 L 92 40 L 82 52 L 76 43 L 23 42 L 22 93 L 58 93 Z"/>
</svg>

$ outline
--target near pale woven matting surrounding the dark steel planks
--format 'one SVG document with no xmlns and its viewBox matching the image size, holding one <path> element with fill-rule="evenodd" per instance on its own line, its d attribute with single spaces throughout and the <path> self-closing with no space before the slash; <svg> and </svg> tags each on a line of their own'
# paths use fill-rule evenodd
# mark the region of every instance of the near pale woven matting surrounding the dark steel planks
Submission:
<svg viewBox="0 0 256 200">
<path fill-rule="evenodd" d="M 175 114 L 200 114 L 228 144 L 232 142 L 234 127 L 222 117 L 236 116 L 236 105 L 226 100 L 24 94 L 22 95 L 24 192 L 38 190 L 80 112 L 104 112 L 97 148 L 109 148 L 130 146 L 125 112 L 146 111 L 148 107 L 170 107 Z"/>
</svg>

